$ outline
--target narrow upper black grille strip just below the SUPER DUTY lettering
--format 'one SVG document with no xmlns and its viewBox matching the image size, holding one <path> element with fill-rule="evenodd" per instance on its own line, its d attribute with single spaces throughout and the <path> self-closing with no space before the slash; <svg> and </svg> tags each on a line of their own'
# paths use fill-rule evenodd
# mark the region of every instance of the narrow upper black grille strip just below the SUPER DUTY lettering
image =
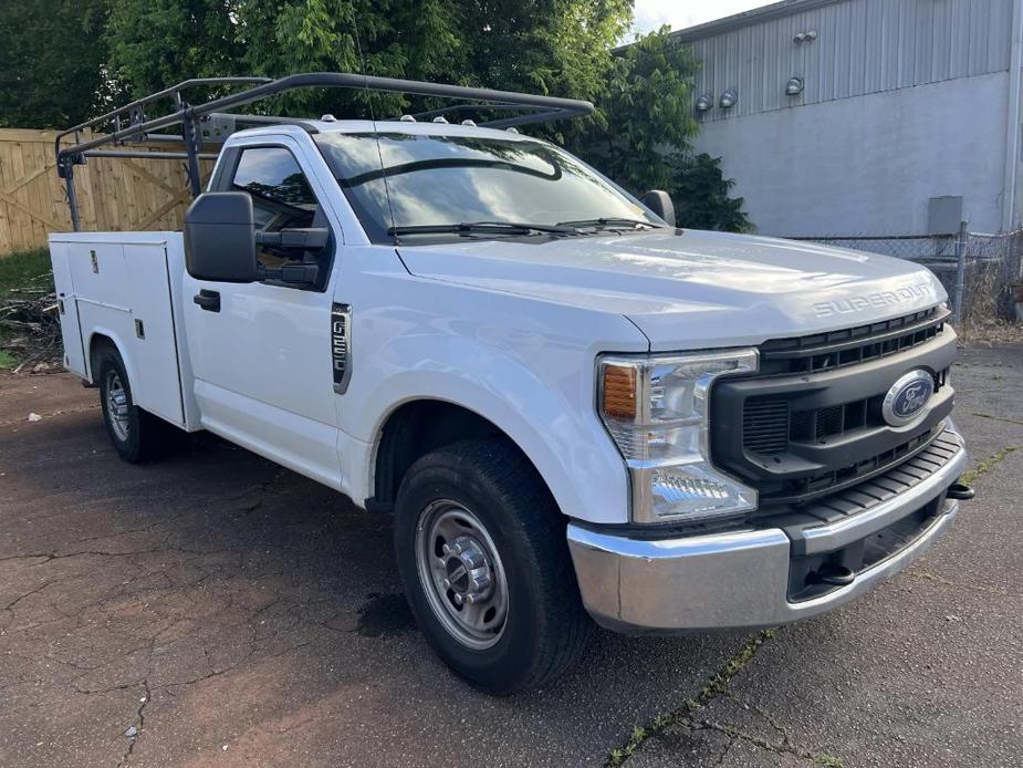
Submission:
<svg viewBox="0 0 1023 768">
<path fill-rule="evenodd" d="M 775 339 L 760 347 L 761 375 L 823 373 L 899 354 L 940 334 L 948 316 L 948 310 L 935 307 L 870 325 Z"/>
</svg>

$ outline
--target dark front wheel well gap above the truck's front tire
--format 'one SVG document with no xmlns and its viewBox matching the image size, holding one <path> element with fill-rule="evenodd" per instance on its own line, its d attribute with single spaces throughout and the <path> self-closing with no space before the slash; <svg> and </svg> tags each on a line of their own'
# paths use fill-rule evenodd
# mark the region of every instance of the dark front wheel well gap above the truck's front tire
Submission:
<svg viewBox="0 0 1023 768">
<path fill-rule="evenodd" d="M 442 401 L 415 401 L 395 411 L 384 424 L 376 452 L 373 498 L 367 508 L 389 510 L 409 467 L 431 450 L 459 440 L 503 437 L 500 427 L 477 413 Z"/>
</svg>

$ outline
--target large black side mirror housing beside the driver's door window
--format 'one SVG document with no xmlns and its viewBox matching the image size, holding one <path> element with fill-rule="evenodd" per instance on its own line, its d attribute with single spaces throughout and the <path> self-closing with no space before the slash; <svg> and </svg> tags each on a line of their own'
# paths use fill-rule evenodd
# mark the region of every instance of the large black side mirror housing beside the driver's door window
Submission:
<svg viewBox="0 0 1023 768">
<path fill-rule="evenodd" d="M 197 280 L 255 282 L 254 217 L 247 193 L 205 193 L 185 214 L 185 266 Z"/>
</svg>

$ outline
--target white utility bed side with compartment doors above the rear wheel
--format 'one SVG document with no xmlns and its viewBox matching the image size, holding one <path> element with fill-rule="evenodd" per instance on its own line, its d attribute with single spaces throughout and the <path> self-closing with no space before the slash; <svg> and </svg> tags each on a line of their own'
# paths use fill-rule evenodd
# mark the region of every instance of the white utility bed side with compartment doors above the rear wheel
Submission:
<svg viewBox="0 0 1023 768">
<path fill-rule="evenodd" d="M 124 360 L 135 403 L 186 429 L 198 428 L 182 333 L 181 232 L 50 236 L 64 367 L 94 382 L 90 351 L 108 338 Z"/>
</svg>

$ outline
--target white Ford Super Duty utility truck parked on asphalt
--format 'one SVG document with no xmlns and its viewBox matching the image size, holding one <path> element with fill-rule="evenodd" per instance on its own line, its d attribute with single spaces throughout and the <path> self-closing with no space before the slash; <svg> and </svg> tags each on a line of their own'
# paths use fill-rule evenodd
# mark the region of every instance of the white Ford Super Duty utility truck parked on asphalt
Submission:
<svg viewBox="0 0 1023 768">
<path fill-rule="evenodd" d="M 646 199 L 469 122 L 236 131 L 184 232 L 51 237 L 65 365 L 128 461 L 206 429 L 392 512 L 419 626 L 487 691 L 551 681 L 591 617 L 863 594 L 972 495 L 941 286 Z"/>
</svg>

